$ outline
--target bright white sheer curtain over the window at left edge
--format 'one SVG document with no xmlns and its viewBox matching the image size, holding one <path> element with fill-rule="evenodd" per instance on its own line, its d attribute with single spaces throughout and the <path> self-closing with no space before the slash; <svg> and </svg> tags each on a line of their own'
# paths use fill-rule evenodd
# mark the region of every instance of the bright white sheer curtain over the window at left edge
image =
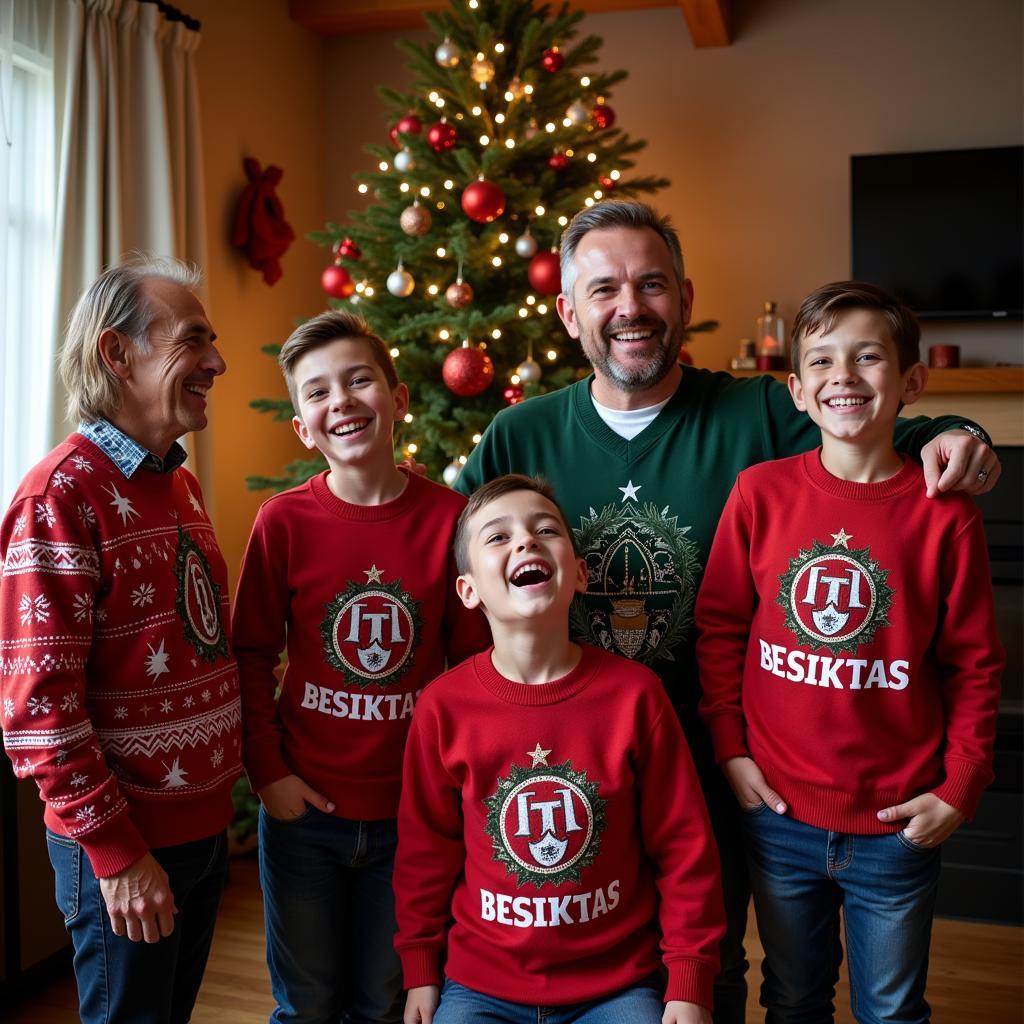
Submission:
<svg viewBox="0 0 1024 1024">
<path fill-rule="evenodd" d="M 53 0 L 0 0 L 0 510 L 51 446 Z"/>
</svg>

